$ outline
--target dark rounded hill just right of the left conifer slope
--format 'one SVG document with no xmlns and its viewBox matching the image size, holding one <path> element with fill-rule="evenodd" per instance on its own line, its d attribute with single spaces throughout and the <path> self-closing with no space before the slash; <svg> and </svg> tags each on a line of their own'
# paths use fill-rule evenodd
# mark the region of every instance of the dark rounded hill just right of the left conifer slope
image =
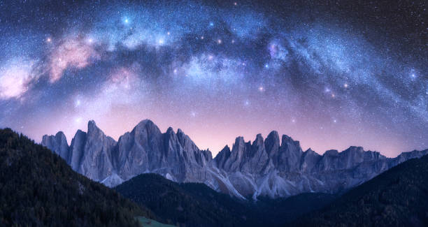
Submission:
<svg viewBox="0 0 428 227">
<path fill-rule="evenodd" d="M 115 190 L 137 204 L 149 207 L 169 224 L 245 226 L 250 220 L 259 223 L 252 210 L 243 203 L 217 193 L 205 184 L 178 184 L 149 173 L 131 178 Z"/>
</svg>

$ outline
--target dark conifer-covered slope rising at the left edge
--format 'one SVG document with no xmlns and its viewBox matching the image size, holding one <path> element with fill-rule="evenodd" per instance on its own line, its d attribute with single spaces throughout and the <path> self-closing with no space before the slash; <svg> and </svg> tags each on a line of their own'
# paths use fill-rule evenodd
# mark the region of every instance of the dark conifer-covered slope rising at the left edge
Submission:
<svg viewBox="0 0 428 227">
<path fill-rule="evenodd" d="M 152 217 L 57 154 L 0 130 L 0 226 L 138 226 Z"/>
</svg>

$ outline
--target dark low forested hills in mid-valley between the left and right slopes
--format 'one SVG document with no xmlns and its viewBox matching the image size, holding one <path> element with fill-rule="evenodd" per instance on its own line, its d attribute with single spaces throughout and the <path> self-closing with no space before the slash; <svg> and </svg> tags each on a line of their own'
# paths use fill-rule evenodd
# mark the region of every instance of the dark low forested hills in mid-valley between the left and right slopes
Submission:
<svg viewBox="0 0 428 227">
<path fill-rule="evenodd" d="M 138 175 L 115 190 L 180 226 L 281 226 L 327 205 L 334 196 L 304 193 L 286 199 L 243 201 L 206 184 L 176 183 L 152 173 Z"/>
</svg>

